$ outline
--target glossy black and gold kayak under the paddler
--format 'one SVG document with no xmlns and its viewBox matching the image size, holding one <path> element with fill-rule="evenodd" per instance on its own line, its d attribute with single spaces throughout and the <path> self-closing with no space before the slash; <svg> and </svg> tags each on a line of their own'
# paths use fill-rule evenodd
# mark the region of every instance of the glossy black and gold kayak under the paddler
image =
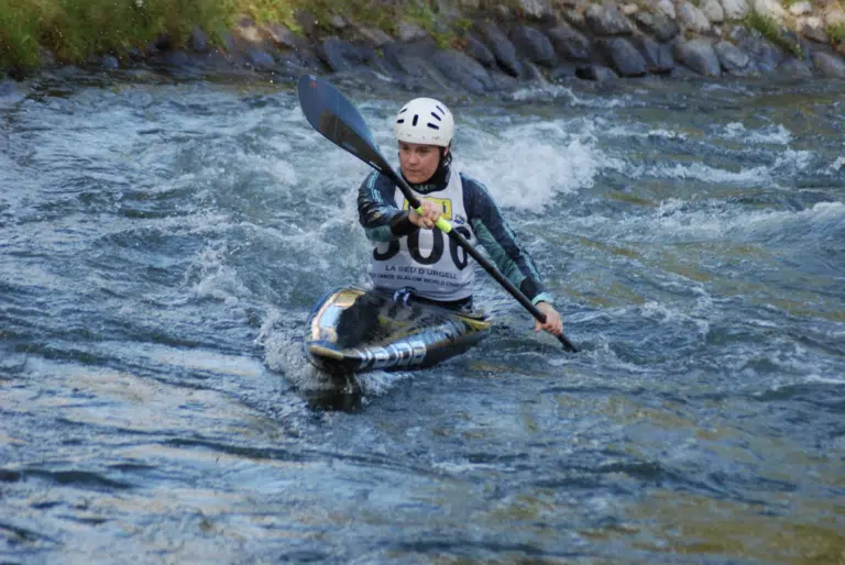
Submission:
<svg viewBox="0 0 845 565">
<path fill-rule="evenodd" d="M 332 374 L 430 367 L 486 337 L 485 317 L 394 301 L 356 287 L 333 290 L 314 308 L 305 334 L 308 361 Z"/>
</svg>

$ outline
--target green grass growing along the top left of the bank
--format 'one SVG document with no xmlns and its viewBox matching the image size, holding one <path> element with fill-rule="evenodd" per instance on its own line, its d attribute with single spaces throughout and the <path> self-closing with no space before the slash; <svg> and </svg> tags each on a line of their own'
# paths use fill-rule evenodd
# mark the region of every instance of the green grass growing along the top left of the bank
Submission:
<svg viewBox="0 0 845 565">
<path fill-rule="evenodd" d="M 387 32 L 399 20 L 413 21 L 442 41 L 432 0 L 3 0 L 0 69 L 36 67 L 43 49 L 61 62 L 80 63 L 94 55 L 143 52 L 162 35 L 180 46 L 195 25 L 219 43 L 239 14 L 298 31 L 299 9 L 311 12 L 320 26 L 328 26 L 332 14 Z"/>
</svg>

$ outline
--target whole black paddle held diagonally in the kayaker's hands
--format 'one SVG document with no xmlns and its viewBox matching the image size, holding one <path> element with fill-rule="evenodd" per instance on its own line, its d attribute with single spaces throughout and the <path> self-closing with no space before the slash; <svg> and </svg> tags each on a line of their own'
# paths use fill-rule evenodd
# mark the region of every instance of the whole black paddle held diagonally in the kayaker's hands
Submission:
<svg viewBox="0 0 845 565">
<path fill-rule="evenodd" d="M 370 129 L 366 126 L 364 119 L 358 110 L 355 110 L 355 107 L 352 106 L 352 102 L 347 100 L 334 87 L 314 75 L 303 75 L 299 77 L 299 106 L 303 108 L 303 113 L 305 113 L 305 117 L 315 130 L 320 132 L 333 144 L 348 151 L 376 169 L 382 175 L 386 175 L 397 187 L 399 187 L 399 190 L 405 195 L 408 203 L 418 212 L 422 212 L 419 198 L 414 195 L 414 191 L 402 175 L 397 175 L 396 171 L 393 170 L 393 167 L 387 163 L 387 159 L 385 159 L 378 151 L 378 146 L 375 144 L 373 135 L 370 133 Z M 531 313 L 531 315 L 539 320 L 540 323 L 546 323 L 546 314 L 540 312 L 537 307 L 528 300 L 528 297 L 505 278 L 492 263 L 490 263 L 463 235 L 458 232 L 458 230 L 452 230 L 452 224 L 446 219 L 440 218 L 436 225 L 469 253 L 472 258 L 479 262 L 479 264 L 484 267 L 484 270 L 490 273 L 490 275 L 495 278 L 496 281 L 511 293 L 511 296 L 516 298 L 519 303 Z M 560 334 L 557 337 L 560 340 L 560 343 L 563 344 L 563 347 L 573 353 L 578 352 L 578 348 L 572 345 L 566 335 Z"/>
</svg>

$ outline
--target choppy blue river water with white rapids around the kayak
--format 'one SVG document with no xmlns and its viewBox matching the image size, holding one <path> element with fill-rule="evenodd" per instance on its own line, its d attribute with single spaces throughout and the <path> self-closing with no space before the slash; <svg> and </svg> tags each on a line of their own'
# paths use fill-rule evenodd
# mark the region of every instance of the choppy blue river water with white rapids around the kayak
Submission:
<svg viewBox="0 0 845 565">
<path fill-rule="evenodd" d="M 409 95 L 333 79 L 385 154 Z M 365 165 L 294 85 L 0 95 L 3 563 L 845 562 L 845 85 L 447 98 L 582 352 L 492 335 L 314 402 Z"/>
</svg>

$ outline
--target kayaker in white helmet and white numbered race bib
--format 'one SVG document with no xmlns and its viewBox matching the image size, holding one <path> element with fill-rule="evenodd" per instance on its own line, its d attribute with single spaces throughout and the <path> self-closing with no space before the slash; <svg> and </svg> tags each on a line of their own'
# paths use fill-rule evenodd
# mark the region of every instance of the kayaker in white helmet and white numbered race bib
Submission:
<svg viewBox="0 0 845 565">
<path fill-rule="evenodd" d="M 374 248 L 369 275 L 376 289 L 451 309 L 472 307 L 472 258 L 440 230 L 442 215 L 473 245 L 481 243 L 498 269 L 546 314 L 535 331 L 563 332 L 528 252 L 519 245 L 487 189 L 452 165 L 454 119 L 442 102 L 416 98 L 396 115 L 399 170 L 420 197 L 424 213 L 408 210 L 402 191 L 372 173 L 361 185 L 358 212 Z"/>
</svg>

